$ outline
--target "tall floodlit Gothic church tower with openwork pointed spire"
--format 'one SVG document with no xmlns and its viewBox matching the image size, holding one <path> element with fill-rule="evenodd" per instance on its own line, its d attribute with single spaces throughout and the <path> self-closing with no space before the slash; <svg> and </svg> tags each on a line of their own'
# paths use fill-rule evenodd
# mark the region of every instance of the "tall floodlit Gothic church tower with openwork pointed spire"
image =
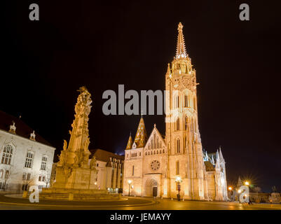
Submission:
<svg viewBox="0 0 281 224">
<path fill-rule="evenodd" d="M 183 25 L 178 25 L 177 51 L 165 75 L 166 144 L 169 153 L 170 194 L 177 193 L 175 179 L 181 178 L 181 197 L 207 197 L 203 150 L 198 130 L 196 70 L 186 53 Z M 205 187 L 204 187 L 205 186 Z"/>
</svg>

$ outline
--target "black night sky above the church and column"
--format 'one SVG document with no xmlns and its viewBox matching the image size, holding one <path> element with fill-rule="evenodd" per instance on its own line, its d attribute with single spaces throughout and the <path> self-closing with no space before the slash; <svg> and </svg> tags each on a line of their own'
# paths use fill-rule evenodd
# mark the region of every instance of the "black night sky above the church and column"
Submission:
<svg viewBox="0 0 281 224">
<path fill-rule="evenodd" d="M 29 20 L 30 3 L 39 3 L 40 21 Z M 250 21 L 239 20 L 240 3 L 249 3 Z M 1 14 L 0 110 L 21 114 L 56 154 L 82 85 L 93 99 L 90 148 L 122 153 L 140 116 L 104 116 L 102 92 L 164 90 L 182 22 L 203 148 L 222 147 L 229 183 L 240 175 L 281 190 L 277 1 L 9 1 Z M 164 116 L 144 120 L 165 134 Z"/>
</svg>

